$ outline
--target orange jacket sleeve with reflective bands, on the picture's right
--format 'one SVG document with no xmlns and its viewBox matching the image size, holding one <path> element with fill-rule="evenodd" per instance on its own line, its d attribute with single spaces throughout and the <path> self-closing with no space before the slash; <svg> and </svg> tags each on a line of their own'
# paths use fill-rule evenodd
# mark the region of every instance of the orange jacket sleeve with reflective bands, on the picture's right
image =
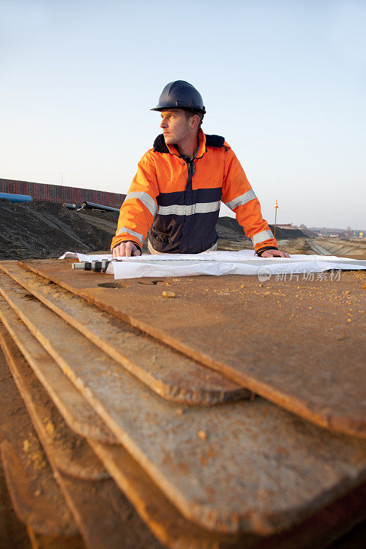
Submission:
<svg viewBox="0 0 366 549">
<path fill-rule="evenodd" d="M 261 253 L 262 248 L 277 249 L 277 241 L 262 218 L 260 202 L 240 162 L 227 143 L 225 149 L 222 202 L 236 213 L 236 219 L 247 237 L 251 238 L 256 253 Z"/>
</svg>

